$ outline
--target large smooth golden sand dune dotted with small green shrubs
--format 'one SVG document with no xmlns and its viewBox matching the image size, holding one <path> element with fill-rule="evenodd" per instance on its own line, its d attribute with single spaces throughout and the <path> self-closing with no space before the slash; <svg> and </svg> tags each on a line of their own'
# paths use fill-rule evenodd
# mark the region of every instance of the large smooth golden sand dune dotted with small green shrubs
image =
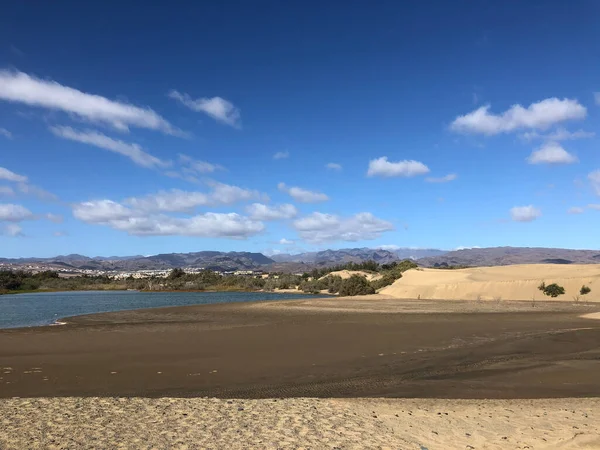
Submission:
<svg viewBox="0 0 600 450">
<path fill-rule="evenodd" d="M 552 299 L 538 286 L 558 283 L 565 294 Z M 413 269 L 380 293 L 396 298 L 445 300 L 568 300 L 583 285 L 591 292 L 581 301 L 600 301 L 600 264 L 519 264 L 469 269 Z"/>
</svg>

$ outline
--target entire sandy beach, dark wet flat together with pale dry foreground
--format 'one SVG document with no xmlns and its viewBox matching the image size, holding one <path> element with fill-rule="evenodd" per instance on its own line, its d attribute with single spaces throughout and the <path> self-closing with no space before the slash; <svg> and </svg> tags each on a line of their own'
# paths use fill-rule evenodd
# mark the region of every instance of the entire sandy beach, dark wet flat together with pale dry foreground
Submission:
<svg viewBox="0 0 600 450">
<path fill-rule="evenodd" d="M 383 295 L 0 331 L 0 448 L 600 448 L 600 305 Z"/>
</svg>

